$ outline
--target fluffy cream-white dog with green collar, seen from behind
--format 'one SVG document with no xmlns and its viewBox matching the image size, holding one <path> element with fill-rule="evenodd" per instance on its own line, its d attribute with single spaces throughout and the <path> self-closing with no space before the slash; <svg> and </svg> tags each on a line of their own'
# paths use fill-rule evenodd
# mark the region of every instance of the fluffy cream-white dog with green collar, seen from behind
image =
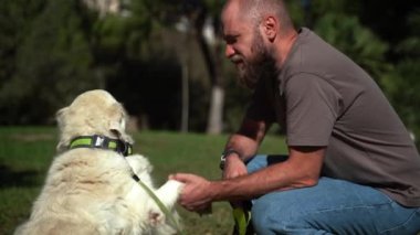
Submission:
<svg viewBox="0 0 420 235">
<path fill-rule="evenodd" d="M 177 217 L 174 205 L 182 188 L 169 180 L 153 186 L 151 165 L 129 154 L 133 139 L 125 132 L 126 113 L 104 90 L 80 95 L 57 111 L 59 156 L 34 202 L 28 222 L 15 234 L 175 234 L 140 180 Z M 177 220 L 178 223 L 178 220 Z"/>
</svg>

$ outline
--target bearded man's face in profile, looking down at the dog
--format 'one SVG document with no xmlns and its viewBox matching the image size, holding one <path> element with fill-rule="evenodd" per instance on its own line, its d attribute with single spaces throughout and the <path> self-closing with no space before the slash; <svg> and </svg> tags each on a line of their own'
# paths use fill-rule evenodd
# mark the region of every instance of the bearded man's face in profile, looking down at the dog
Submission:
<svg viewBox="0 0 420 235">
<path fill-rule="evenodd" d="M 275 62 L 258 26 L 237 18 L 233 10 L 222 15 L 225 56 L 235 64 L 241 84 L 253 89 L 260 77 L 274 73 Z"/>
</svg>

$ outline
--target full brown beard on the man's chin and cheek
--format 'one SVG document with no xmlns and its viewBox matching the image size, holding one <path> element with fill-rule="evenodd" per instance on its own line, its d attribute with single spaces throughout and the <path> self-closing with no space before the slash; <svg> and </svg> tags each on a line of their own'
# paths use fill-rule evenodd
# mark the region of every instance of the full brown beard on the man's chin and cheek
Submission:
<svg viewBox="0 0 420 235">
<path fill-rule="evenodd" d="M 248 61 L 242 57 L 243 67 L 238 68 L 240 83 L 250 89 L 254 89 L 260 79 L 276 73 L 275 60 L 264 46 L 259 32 L 255 32 L 252 50 L 254 57 Z"/>
</svg>

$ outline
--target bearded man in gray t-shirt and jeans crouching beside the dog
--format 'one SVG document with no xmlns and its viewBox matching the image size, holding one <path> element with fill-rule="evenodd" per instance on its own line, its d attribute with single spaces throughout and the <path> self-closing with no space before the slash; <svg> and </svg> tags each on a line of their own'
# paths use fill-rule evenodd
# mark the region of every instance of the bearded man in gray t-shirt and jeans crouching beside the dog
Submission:
<svg viewBox="0 0 420 235">
<path fill-rule="evenodd" d="M 251 201 L 258 234 L 416 234 L 420 157 L 369 75 L 308 29 L 281 0 L 229 0 L 225 55 L 254 90 L 222 154 L 223 180 L 177 173 L 180 204 Z M 287 157 L 255 156 L 272 124 Z M 243 233 L 243 231 L 241 232 Z"/>
</svg>

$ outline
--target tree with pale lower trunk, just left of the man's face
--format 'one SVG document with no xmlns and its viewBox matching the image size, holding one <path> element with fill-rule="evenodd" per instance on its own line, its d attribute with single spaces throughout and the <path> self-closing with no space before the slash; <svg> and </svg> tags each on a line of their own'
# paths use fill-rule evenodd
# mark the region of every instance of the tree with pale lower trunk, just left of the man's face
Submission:
<svg viewBox="0 0 420 235">
<path fill-rule="evenodd" d="M 157 1 L 156 4 L 158 7 L 154 7 L 155 12 L 160 13 L 154 14 L 160 15 L 158 20 L 162 25 L 174 26 L 181 19 L 187 20 L 187 23 L 191 25 L 187 33 L 192 35 L 199 45 L 211 87 L 207 132 L 220 133 L 223 129 L 224 88 L 219 13 L 223 2 L 214 0 L 177 0 L 175 2 L 161 0 Z M 210 41 L 203 34 L 203 31 L 209 28 L 216 32 L 214 38 Z"/>
</svg>

